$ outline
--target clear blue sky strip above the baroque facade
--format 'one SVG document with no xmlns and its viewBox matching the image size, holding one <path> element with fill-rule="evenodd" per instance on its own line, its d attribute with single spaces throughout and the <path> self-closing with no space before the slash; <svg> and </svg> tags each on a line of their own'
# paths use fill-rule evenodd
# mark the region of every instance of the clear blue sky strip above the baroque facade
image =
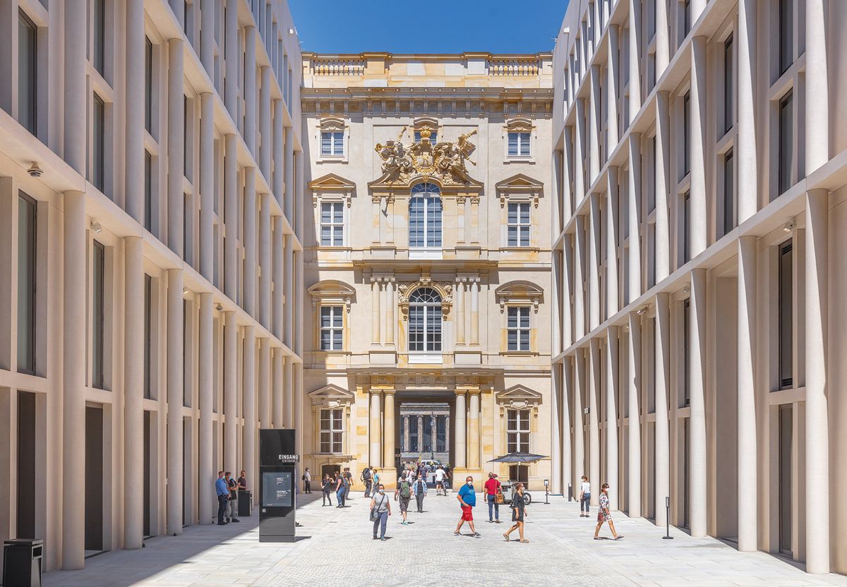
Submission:
<svg viewBox="0 0 847 587">
<path fill-rule="evenodd" d="M 552 51 L 567 0 L 289 0 L 303 51 Z"/>
</svg>

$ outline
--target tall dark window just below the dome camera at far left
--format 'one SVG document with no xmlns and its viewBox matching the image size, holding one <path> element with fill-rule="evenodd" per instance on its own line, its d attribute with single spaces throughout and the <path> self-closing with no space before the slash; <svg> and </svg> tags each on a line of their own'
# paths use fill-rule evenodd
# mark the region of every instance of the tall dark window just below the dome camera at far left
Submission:
<svg viewBox="0 0 847 587">
<path fill-rule="evenodd" d="M 36 372 L 36 201 L 18 195 L 18 371 Z"/>
</svg>

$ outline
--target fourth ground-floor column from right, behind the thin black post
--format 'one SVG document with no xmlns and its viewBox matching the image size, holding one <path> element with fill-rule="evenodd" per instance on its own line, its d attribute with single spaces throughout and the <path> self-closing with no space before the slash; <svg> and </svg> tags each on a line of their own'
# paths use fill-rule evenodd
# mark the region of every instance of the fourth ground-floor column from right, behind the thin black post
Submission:
<svg viewBox="0 0 847 587">
<path fill-rule="evenodd" d="M 656 526 L 667 522 L 665 499 L 671 495 L 667 395 L 670 391 L 671 313 L 667 293 L 656 294 Z M 755 450 L 755 449 L 754 449 Z"/>
</svg>

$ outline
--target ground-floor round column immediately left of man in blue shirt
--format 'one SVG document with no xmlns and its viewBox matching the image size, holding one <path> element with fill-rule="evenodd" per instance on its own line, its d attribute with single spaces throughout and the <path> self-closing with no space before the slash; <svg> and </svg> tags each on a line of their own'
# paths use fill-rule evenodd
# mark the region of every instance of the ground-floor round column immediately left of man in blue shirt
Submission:
<svg viewBox="0 0 847 587">
<path fill-rule="evenodd" d="M 219 469 L 215 468 L 213 461 L 213 435 L 212 435 L 212 394 L 213 394 L 213 369 L 203 368 L 214 364 L 214 353 L 212 348 L 213 339 L 213 296 L 211 293 L 200 294 L 200 324 L 197 336 L 198 352 L 197 364 L 197 404 L 200 412 L 200 435 L 198 441 L 199 450 L 197 460 L 200 469 L 200 523 L 212 523 L 216 513 L 215 491 L 213 479 Z"/>
</svg>

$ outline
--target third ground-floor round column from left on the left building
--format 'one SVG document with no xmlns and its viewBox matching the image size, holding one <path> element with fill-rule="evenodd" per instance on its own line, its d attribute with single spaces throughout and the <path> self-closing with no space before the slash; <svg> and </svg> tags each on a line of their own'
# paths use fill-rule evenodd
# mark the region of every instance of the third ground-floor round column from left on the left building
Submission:
<svg viewBox="0 0 847 587">
<path fill-rule="evenodd" d="M 168 534 L 182 534 L 182 408 L 185 405 L 182 284 L 182 269 L 168 269 Z"/>
</svg>

